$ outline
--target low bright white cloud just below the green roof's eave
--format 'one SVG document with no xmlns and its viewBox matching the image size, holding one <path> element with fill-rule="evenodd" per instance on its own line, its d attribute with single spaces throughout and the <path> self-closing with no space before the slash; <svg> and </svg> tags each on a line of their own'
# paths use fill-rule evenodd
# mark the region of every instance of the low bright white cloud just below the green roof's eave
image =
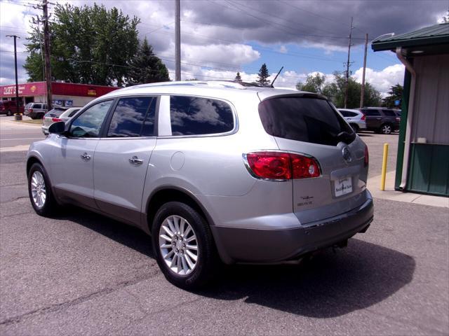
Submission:
<svg viewBox="0 0 449 336">
<path fill-rule="evenodd" d="M 354 78 L 358 83 L 362 81 L 362 73 L 363 68 L 358 69 L 354 73 Z M 385 96 L 391 86 L 403 84 L 404 66 L 402 64 L 394 64 L 387 66 L 381 71 L 366 68 L 365 80 L 379 90 L 382 96 Z"/>
</svg>

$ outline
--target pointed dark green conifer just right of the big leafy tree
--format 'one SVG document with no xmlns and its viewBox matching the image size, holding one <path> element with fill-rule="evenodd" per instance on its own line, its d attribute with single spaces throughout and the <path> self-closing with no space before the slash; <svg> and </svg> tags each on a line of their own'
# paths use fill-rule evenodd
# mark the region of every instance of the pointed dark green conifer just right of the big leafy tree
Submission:
<svg viewBox="0 0 449 336">
<path fill-rule="evenodd" d="M 170 80 L 168 70 L 161 59 L 154 55 L 153 48 L 145 37 L 139 45 L 138 52 L 129 62 L 130 69 L 126 75 L 127 85 L 166 82 Z"/>
</svg>

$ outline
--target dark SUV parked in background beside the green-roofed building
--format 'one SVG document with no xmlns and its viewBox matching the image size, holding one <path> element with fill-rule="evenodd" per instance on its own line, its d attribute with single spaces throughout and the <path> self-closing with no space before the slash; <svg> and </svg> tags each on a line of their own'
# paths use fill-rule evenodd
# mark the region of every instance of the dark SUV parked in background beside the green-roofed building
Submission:
<svg viewBox="0 0 449 336">
<path fill-rule="evenodd" d="M 393 109 L 382 107 L 364 107 L 360 111 L 366 116 L 366 130 L 391 134 L 399 130 L 401 117 Z"/>
</svg>

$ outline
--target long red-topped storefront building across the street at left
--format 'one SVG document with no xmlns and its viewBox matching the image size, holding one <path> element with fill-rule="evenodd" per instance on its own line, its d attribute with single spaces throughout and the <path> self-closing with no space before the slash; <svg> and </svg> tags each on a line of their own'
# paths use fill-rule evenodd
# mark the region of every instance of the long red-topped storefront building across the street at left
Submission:
<svg viewBox="0 0 449 336">
<path fill-rule="evenodd" d="M 46 103 L 46 82 L 19 84 L 21 106 L 28 103 Z M 52 82 L 53 106 L 84 106 L 93 99 L 119 87 Z M 15 85 L 0 86 L 1 100 L 15 100 Z"/>
</svg>

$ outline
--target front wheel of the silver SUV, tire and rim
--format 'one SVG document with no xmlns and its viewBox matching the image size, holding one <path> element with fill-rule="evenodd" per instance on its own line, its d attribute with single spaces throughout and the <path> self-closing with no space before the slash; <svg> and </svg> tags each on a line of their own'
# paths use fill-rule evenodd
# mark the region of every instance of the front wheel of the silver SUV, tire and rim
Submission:
<svg viewBox="0 0 449 336">
<path fill-rule="evenodd" d="M 50 217 L 56 213 L 57 203 L 51 191 L 51 184 L 45 169 L 37 162 L 28 172 L 28 195 L 34 211 L 39 216 Z"/>
</svg>

